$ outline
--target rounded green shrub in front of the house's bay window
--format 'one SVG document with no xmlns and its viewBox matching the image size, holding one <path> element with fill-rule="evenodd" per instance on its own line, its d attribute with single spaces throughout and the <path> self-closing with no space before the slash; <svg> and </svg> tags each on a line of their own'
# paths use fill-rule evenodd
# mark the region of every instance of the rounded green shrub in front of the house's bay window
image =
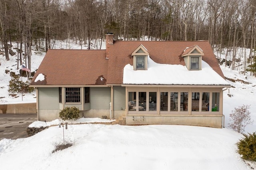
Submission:
<svg viewBox="0 0 256 170">
<path fill-rule="evenodd" d="M 79 117 L 79 113 L 80 111 L 76 107 L 66 107 L 59 113 L 59 117 L 64 121 L 70 119 L 76 120 Z"/>
</svg>

